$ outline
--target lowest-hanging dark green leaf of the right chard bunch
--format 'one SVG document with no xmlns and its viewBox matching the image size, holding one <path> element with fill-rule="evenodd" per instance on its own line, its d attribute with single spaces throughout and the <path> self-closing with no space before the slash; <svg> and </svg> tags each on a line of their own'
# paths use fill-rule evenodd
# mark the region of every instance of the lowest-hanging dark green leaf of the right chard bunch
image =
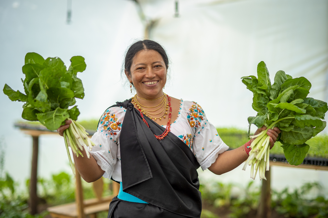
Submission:
<svg viewBox="0 0 328 218">
<path fill-rule="evenodd" d="M 303 162 L 310 146 L 305 143 L 300 145 L 285 144 L 282 148 L 284 149 L 284 154 L 289 164 L 299 165 Z"/>
</svg>

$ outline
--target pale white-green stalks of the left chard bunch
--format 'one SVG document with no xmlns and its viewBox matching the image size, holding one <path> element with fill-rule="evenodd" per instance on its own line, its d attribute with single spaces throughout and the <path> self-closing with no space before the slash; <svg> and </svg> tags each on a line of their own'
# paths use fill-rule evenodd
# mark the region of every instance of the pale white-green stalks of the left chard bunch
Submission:
<svg viewBox="0 0 328 218">
<path fill-rule="evenodd" d="M 72 120 L 72 119 L 68 118 L 68 120 Z M 74 176 L 75 176 L 75 168 L 73 166 L 70 150 L 68 149 L 68 147 L 69 146 L 71 147 L 73 154 L 75 154 L 77 157 L 79 155 L 83 157 L 81 151 L 83 151 L 84 149 L 86 151 L 87 157 L 90 158 L 89 151 L 92 150 L 92 146 L 95 146 L 95 144 L 89 139 L 87 135 L 89 135 L 89 133 L 85 131 L 85 128 L 80 124 L 78 124 L 77 122 L 75 122 L 74 120 L 72 120 L 70 127 L 64 130 L 64 141 L 65 141 L 66 151 Z"/>
</svg>

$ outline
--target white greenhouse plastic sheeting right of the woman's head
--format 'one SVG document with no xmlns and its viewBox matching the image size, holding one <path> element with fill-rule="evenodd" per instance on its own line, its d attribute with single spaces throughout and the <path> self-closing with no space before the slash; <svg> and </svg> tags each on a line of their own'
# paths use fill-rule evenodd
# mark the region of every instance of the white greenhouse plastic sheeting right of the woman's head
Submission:
<svg viewBox="0 0 328 218">
<path fill-rule="evenodd" d="M 328 100 L 328 1 L 180 0 L 178 17 L 174 1 L 139 2 L 172 60 L 169 90 L 198 100 L 216 126 L 245 129 L 256 115 L 240 77 L 256 75 L 260 61 L 272 83 L 278 70 L 304 76 L 309 96 Z"/>
</svg>

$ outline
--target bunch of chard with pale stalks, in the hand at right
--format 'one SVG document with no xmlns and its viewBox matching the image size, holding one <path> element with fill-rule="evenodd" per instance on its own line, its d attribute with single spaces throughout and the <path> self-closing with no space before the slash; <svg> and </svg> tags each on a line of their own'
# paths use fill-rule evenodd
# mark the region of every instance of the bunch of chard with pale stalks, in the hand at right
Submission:
<svg viewBox="0 0 328 218">
<path fill-rule="evenodd" d="M 307 98 L 311 83 L 304 77 L 293 79 L 280 70 L 271 85 L 269 71 L 263 61 L 257 65 L 257 78 L 247 76 L 241 79 L 253 92 L 252 107 L 258 112 L 256 117 L 248 118 L 248 136 L 252 123 L 258 128 L 267 127 L 260 134 L 251 136 L 256 139 L 250 145 L 252 150 L 243 170 L 251 165 L 251 178 L 255 179 L 259 171 L 260 179 L 266 179 L 270 151 L 267 130 L 274 127 L 281 130 L 277 141 L 281 142 L 287 161 L 292 165 L 301 164 L 310 148 L 305 142 L 326 127 L 326 122 L 321 119 L 328 110 L 327 103 Z"/>
</svg>

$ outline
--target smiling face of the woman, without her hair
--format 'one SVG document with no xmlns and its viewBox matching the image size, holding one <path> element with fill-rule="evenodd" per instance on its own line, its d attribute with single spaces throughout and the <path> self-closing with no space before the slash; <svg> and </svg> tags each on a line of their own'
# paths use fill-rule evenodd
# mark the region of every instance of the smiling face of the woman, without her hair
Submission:
<svg viewBox="0 0 328 218">
<path fill-rule="evenodd" d="M 133 58 L 131 73 L 125 74 L 132 82 L 137 95 L 145 99 L 156 99 L 163 95 L 167 69 L 162 56 L 155 50 L 141 50 Z"/>
</svg>

